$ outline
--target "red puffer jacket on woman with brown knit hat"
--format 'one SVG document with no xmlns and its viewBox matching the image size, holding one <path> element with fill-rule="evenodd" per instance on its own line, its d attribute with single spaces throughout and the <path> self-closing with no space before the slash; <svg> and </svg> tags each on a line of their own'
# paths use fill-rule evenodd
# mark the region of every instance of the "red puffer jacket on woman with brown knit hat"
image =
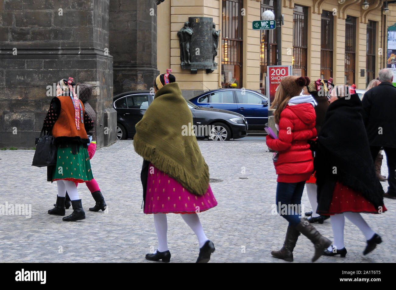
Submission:
<svg viewBox="0 0 396 290">
<path fill-rule="evenodd" d="M 314 158 L 307 141 L 316 137 L 315 119 L 311 104 L 287 105 L 280 114 L 279 139 L 267 135 L 268 148 L 279 152 L 274 163 L 278 182 L 294 183 L 310 178 Z"/>
</svg>

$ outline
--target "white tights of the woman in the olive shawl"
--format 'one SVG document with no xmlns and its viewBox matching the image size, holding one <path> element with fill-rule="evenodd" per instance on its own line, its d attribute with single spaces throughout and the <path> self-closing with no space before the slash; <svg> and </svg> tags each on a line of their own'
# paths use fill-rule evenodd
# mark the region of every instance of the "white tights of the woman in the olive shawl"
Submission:
<svg viewBox="0 0 396 290">
<path fill-rule="evenodd" d="M 198 237 L 199 247 L 202 248 L 206 241 L 208 241 L 208 238 L 206 237 L 204 229 L 202 228 L 198 214 L 181 214 L 181 217 L 186 222 L 186 224 L 190 226 L 192 231 L 194 231 Z M 166 218 L 166 214 L 154 214 L 154 225 L 158 238 L 158 251 L 165 252 L 168 250 L 168 240 L 166 237 L 166 233 L 168 231 L 168 220 Z"/>
</svg>

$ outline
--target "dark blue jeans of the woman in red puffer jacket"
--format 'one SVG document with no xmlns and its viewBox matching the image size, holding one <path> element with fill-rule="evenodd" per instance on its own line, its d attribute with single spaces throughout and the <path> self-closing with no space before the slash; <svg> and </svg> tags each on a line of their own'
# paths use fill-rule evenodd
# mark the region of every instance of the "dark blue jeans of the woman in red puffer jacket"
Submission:
<svg viewBox="0 0 396 290">
<path fill-rule="evenodd" d="M 276 208 L 278 214 L 286 218 L 291 226 L 297 226 L 301 218 L 301 197 L 305 181 L 286 183 L 278 182 L 276 186 Z"/>
</svg>

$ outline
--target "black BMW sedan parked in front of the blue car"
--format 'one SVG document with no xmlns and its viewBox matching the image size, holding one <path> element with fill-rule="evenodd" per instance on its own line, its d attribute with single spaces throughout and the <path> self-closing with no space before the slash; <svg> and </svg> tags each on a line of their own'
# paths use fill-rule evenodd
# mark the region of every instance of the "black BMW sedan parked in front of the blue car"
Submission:
<svg viewBox="0 0 396 290">
<path fill-rule="evenodd" d="M 135 125 L 145 114 L 154 99 L 150 91 L 131 91 L 121 93 L 113 98 L 113 106 L 117 111 L 117 138 L 133 138 L 136 133 Z M 247 135 L 246 118 L 241 114 L 196 106 L 187 100 L 191 110 L 193 124 L 186 124 L 181 128 L 185 132 L 194 130 L 198 139 L 227 141 L 243 138 Z"/>
</svg>

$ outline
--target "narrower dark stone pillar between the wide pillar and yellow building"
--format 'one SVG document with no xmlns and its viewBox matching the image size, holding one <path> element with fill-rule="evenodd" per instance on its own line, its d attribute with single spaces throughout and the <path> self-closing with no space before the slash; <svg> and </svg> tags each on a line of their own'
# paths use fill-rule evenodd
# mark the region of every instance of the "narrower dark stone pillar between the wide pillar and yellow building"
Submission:
<svg viewBox="0 0 396 290">
<path fill-rule="evenodd" d="M 110 0 L 109 43 L 114 95 L 153 87 L 159 74 L 156 0 Z"/>
</svg>

